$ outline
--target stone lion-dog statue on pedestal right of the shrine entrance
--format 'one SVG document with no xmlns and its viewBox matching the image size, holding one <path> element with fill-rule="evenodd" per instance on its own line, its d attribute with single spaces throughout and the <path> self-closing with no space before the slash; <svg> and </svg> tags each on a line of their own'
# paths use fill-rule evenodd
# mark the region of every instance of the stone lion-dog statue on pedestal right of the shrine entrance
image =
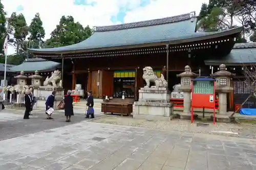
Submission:
<svg viewBox="0 0 256 170">
<path fill-rule="evenodd" d="M 153 71 L 153 68 L 150 66 L 143 68 L 142 78 L 146 81 L 146 86 L 144 88 L 149 88 L 150 82 L 155 83 L 155 86 L 152 86 L 152 88 L 166 88 L 168 86 L 168 83 L 164 79 L 163 74 L 161 74 L 160 78 L 157 77 Z"/>
</svg>

